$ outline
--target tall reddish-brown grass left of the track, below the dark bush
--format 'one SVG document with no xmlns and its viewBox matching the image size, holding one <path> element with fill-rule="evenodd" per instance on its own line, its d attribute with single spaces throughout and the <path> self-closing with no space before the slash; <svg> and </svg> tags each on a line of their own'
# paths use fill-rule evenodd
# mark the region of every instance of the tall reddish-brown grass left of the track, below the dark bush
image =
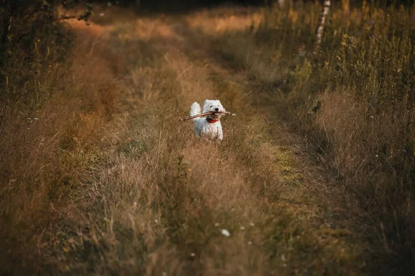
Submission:
<svg viewBox="0 0 415 276">
<path fill-rule="evenodd" d="M 104 158 L 97 139 L 115 112 L 118 85 L 106 61 L 86 55 L 83 48 L 89 48 L 87 42 L 73 50 L 77 54 L 70 62 L 54 63 L 24 85 L 18 78 L 7 83 L 16 97 L 8 98 L 0 150 L 1 259 L 6 271 L 27 266 L 34 257 L 27 250 L 39 250 L 33 246 L 45 226 L 62 216 L 68 195 L 80 182 L 90 181 L 91 170 Z M 10 259 L 20 261 L 8 263 Z"/>
</svg>

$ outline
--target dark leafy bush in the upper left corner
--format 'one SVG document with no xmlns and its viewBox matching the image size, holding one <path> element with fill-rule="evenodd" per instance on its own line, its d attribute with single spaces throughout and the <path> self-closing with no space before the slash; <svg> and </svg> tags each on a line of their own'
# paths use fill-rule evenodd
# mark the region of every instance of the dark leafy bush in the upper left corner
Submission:
<svg viewBox="0 0 415 276">
<path fill-rule="evenodd" d="M 71 18 L 86 21 L 91 15 L 91 4 L 82 5 L 78 14 L 69 17 L 59 14 L 58 6 L 71 8 L 75 2 L 81 5 L 84 1 L 13 0 L 1 3 L 1 120 L 8 110 L 21 106 L 24 109 L 39 108 L 50 99 L 53 88 L 48 80 L 57 66 L 62 66 L 73 46 L 73 34 L 64 21 Z"/>
</svg>

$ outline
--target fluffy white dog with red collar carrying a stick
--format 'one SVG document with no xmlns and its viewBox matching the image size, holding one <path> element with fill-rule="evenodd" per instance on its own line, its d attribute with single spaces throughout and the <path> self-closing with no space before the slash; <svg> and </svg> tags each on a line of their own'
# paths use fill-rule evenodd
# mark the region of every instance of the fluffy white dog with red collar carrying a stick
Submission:
<svg viewBox="0 0 415 276">
<path fill-rule="evenodd" d="M 219 99 L 212 100 L 207 99 L 205 103 L 203 103 L 203 113 L 205 112 L 223 112 L 225 108 L 223 108 L 221 101 Z M 199 103 L 192 103 L 190 106 L 190 116 L 201 114 L 201 106 Z M 222 125 L 221 113 L 214 113 L 212 115 L 208 115 L 208 117 L 199 117 L 194 118 L 194 134 L 197 137 L 204 137 L 208 139 L 214 139 L 216 141 L 222 141 L 223 139 L 223 132 L 222 132 Z"/>
</svg>

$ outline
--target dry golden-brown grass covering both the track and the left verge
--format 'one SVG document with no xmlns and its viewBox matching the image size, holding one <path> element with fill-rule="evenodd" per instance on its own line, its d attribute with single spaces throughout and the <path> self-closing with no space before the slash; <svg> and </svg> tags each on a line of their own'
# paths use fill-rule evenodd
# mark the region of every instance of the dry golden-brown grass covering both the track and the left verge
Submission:
<svg viewBox="0 0 415 276">
<path fill-rule="evenodd" d="M 274 75 L 264 74 L 264 86 L 215 54 L 243 41 L 226 32 L 258 20 L 256 10 L 223 8 L 90 28 L 72 22 L 79 43 L 48 76 L 53 96 L 33 113 L 10 109 L 3 126 L 1 269 L 362 274 L 367 242 L 339 217 L 326 172 L 270 106 Z M 237 113 L 223 119 L 221 145 L 177 120 L 209 98 Z"/>
</svg>

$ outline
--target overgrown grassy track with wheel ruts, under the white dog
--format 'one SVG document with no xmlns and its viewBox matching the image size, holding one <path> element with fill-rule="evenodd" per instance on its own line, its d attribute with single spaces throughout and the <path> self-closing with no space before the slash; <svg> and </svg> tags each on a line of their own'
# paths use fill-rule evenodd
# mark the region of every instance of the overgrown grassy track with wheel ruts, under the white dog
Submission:
<svg viewBox="0 0 415 276">
<path fill-rule="evenodd" d="M 122 93 L 102 136 L 110 142 L 100 149 L 104 161 L 50 230 L 54 246 L 42 248 L 55 256 L 50 269 L 361 274 L 362 246 L 325 199 L 323 170 L 265 104 L 275 100 L 269 89 L 217 54 L 218 38 L 198 25 L 209 14 L 75 28 L 112 66 Z M 250 12 L 236 17 L 249 27 Z M 219 146 L 198 141 L 192 123 L 176 119 L 193 101 L 216 98 L 237 113 L 223 119 Z"/>
</svg>

